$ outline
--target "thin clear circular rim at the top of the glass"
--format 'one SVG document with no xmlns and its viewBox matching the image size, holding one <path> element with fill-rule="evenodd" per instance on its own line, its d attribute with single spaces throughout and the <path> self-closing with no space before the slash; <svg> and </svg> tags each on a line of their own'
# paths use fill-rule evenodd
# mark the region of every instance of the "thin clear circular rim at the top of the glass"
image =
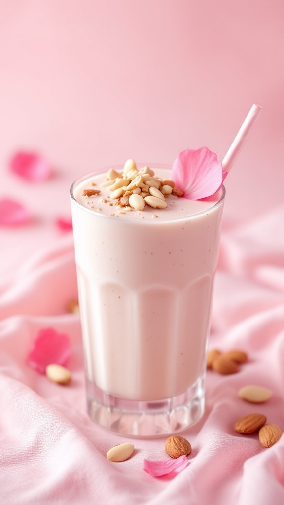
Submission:
<svg viewBox="0 0 284 505">
<path fill-rule="evenodd" d="M 85 175 L 82 175 L 81 177 L 78 177 L 77 179 L 75 179 L 75 181 L 73 182 L 73 184 L 70 187 L 71 200 L 73 200 L 74 204 L 76 204 L 77 206 L 79 206 L 79 208 L 83 209 L 84 211 L 86 211 L 88 213 L 91 213 L 92 215 L 96 215 L 96 216 L 100 216 L 101 218 L 108 219 L 110 217 L 108 214 L 101 214 L 100 212 L 94 211 L 92 209 L 88 209 L 86 206 L 84 206 L 83 204 L 81 204 L 75 198 L 74 188 L 75 188 L 75 186 L 77 186 L 78 184 L 80 184 L 81 182 L 83 182 L 85 179 L 89 179 L 92 176 L 105 174 L 108 170 L 110 170 L 110 168 L 113 168 L 114 170 L 120 170 L 121 171 L 122 165 L 123 164 L 120 164 L 120 165 L 110 165 L 110 166 L 105 167 L 105 168 L 100 168 L 98 170 L 93 170 L 92 172 L 89 172 L 89 173 L 87 173 Z M 154 167 L 154 168 L 157 168 L 157 169 L 161 168 L 161 169 L 167 169 L 167 170 L 170 170 L 172 168 L 171 165 L 166 165 L 166 164 L 162 164 L 162 163 L 150 163 L 150 164 L 149 163 L 136 163 L 136 166 L 139 167 L 139 168 L 143 168 L 145 166 L 151 166 L 151 167 Z M 191 216 L 184 216 L 184 217 L 179 217 L 179 218 L 176 218 L 176 219 L 165 219 L 163 221 L 160 221 L 159 223 L 162 224 L 162 223 L 169 223 L 169 222 L 174 222 L 174 221 L 175 222 L 177 222 L 177 221 L 183 221 L 183 220 L 188 220 L 188 218 L 195 219 L 196 217 L 198 217 L 198 216 L 200 216 L 202 214 L 206 214 L 208 212 L 211 213 L 213 209 L 215 209 L 216 207 L 219 207 L 222 204 L 222 202 L 223 202 L 223 200 L 225 198 L 226 189 L 225 189 L 225 186 L 223 184 L 219 188 L 218 191 L 220 191 L 220 190 L 222 190 L 222 194 L 221 194 L 220 198 L 217 201 L 215 201 L 214 205 L 212 205 L 208 209 L 204 209 L 203 211 L 197 212 L 196 214 L 193 214 Z M 129 217 L 127 219 L 127 223 L 130 223 L 130 222 L 133 222 L 133 221 L 135 221 L 135 223 L 138 223 L 138 222 L 141 223 L 141 222 L 143 222 L 143 221 L 138 221 L 137 219 L 134 219 L 134 218 L 131 219 L 131 217 Z M 157 222 L 157 220 L 152 220 L 151 222 L 155 223 L 155 222 Z M 147 223 L 150 223 L 150 221 L 147 220 Z"/>
</svg>

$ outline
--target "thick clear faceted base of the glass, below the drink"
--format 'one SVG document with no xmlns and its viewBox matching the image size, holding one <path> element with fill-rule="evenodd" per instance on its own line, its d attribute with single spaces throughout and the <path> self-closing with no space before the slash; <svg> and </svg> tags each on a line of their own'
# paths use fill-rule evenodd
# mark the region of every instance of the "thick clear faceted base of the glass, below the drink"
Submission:
<svg viewBox="0 0 284 505">
<path fill-rule="evenodd" d="M 182 394 L 158 401 L 138 401 L 106 393 L 86 379 L 88 414 L 102 428 L 120 435 L 170 435 L 192 426 L 203 416 L 204 382 L 203 375 Z"/>
</svg>

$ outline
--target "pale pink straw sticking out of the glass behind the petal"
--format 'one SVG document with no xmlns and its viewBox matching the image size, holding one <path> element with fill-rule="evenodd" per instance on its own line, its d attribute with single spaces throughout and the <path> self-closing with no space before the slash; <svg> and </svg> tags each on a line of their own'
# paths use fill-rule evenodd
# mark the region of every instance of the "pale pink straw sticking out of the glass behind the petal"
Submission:
<svg viewBox="0 0 284 505">
<path fill-rule="evenodd" d="M 232 168 L 236 158 L 238 158 L 245 142 L 247 141 L 254 125 L 256 124 L 260 114 L 262 111 L 262 107 L 258 104 L 254 104 L 247 115 L 245 121 L 243 122 L 240 130 L 236 134 L 232 144 L 222 161 L 223 172 L 229 172 Z"/>
</svg>

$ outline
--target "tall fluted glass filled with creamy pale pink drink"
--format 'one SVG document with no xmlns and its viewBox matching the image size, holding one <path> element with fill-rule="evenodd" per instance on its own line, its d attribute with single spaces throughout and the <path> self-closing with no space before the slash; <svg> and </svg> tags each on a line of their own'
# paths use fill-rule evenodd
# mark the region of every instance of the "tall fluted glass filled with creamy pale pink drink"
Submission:
<svg viewBox="0 0 284 505">
<path fill-rule="evenodd" d="M 153 436 L 203 414 L 224 189 L 190 200 L 164 184 L 170 170 L 143 182 L 139 170 L 126 181 L 130 195 L 124 184 L 114 198 L 119 178 L 106 186 L 106 173 L 91 174 L 73 184 L 71 202 L 89 414 L 119 433 Z M 131 194 L 148 195 L 147 180 L 158 181 L 166 208 L 131 208 Z"/>
</svg>

